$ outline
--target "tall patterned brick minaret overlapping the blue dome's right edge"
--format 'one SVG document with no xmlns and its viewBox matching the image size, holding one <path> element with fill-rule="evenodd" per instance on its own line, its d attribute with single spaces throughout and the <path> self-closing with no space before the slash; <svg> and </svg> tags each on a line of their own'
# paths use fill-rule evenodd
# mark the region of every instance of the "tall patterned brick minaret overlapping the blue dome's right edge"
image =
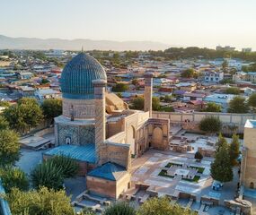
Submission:
<svg viewBox="0 0 256 215">
<path fill-rule="evenodd" d="M 93 80 L 95 105 L 95 154 L 96 164 L 101 164 L 102 145 L 106 139 L 105 90 L 106 80 Z"/>
</svg>

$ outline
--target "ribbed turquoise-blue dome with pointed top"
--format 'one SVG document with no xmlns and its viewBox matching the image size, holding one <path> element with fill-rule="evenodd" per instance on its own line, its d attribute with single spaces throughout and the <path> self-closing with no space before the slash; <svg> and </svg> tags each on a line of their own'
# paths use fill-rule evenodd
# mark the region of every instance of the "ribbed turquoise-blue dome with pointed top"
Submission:
<svg viewBox="0 0 256 215">
<path fill-rule="evenodd" d="M 80 53 L 69 61 L 61 74 L 63 98 L 93 99 L 93 80 L 107 80 L 102 65 L 93 56 Z"/>
</svg>

